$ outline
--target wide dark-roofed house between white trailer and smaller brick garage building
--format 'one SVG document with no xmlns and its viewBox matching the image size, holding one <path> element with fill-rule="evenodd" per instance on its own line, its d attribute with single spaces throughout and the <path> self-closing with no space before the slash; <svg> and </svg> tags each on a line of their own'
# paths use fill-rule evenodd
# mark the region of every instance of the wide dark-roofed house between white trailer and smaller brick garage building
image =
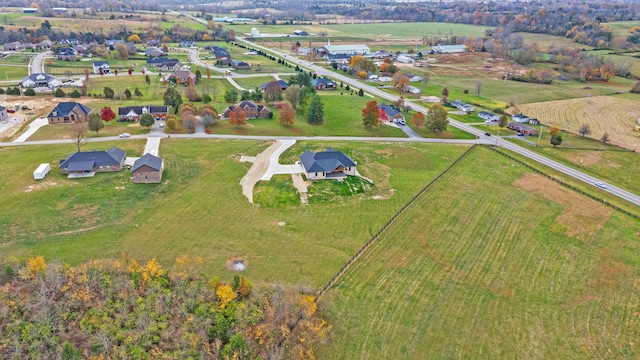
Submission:
<svg viewBox="0 0 640 360">
<path fill-rule="evenodd" d="M 89 177 L 100 172 L 116 172 L 122 170 L 127 153 L 117 147 L 106 151 L 79 151 L 60 160 L 61 174 L 69 178 Z"/>
</svg>

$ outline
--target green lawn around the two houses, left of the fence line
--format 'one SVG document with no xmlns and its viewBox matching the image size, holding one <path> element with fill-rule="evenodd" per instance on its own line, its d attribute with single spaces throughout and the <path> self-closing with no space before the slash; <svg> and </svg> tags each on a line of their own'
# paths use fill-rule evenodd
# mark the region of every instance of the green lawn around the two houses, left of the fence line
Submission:
<svg viewBox="0 0 640 360">
<path fill-rule="evenodd" d="M 140 155 L 143 141 L 113 145 Z M 303 142 L 282 158 L 291 163 L 305 150 L 334 147 L 373 179 L 366 193 L 309 206 L 258 206 L 239 186 L 260 141 L 162 141 L 162 184 L 131 184 L 126 172 L 67 179 L 52 171 L 34 182 L 37 164 L 57 164 L 73 144 L 4 148 L 0 162 L 0 256 L 44 255 L 79 264 L 89 259 L 157 257 L 170 266 L 180 254 L 202 256 L 206 273 L 230 280 L 233 259 L 246 260 L 256 283 L 319 287 L 430 179 L 466 146 Z M 288 181 L 291 181 L 290 179 Z M 277 184 L 274 184 L 276 186 Z M 284 224 L 283 224 L 284 223 Z M 153 246 L 150 246 L 153 244 Z"/>
</svg>

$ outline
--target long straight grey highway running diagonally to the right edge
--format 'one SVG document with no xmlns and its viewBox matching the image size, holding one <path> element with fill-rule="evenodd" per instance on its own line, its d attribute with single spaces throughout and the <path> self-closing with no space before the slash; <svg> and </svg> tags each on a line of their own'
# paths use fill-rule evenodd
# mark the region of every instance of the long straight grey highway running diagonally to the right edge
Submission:
<svg viewBox="0 0 640 360">
<path fill-rule="evenodd" d="M 267 47 L 264 47 L 264 46 L 260 46 L 260 45 L 255 44 L 255 43 L 253 43 L 253 42 L 251 42 L 251 41 L 249 41 L 247 39 L 244 39 L 244 38 L 238 38 L 237 40 L 238 41 L 242 41 L 242 42 L 246 43 L 247 45 L 252 46 L 254 48 L 258 48 L 258 49 L 262 49 L 262 50 L 265 50 L 265 51 L 269 51 L 269 52 L 271 52 L 273 54 L 276 54 L 277 56 L 280 56 L 283 59 L 286 57 L 288 61 L 290 61 L 292 63 L 295 63 L 295 64 L 298 64 L 298 65 L 300 65 L 302 67 L 305 67 L 305 68 L 315 72 L 319 76 L 332 77 L 334 79 L 337 79 L 338 81 L 343 82 L 344 84 L 349 84 L 349 86 L 351 86 L 351 87 L 362 88 L 366 92 L 369 92 L 369 93 L 371 93 L 373 95 L 376 95 L 378 97 L 381 97 L 381 98 L 389 100 L 389 101 L 395 101 L 398 98 L 397 96 L 389 94 L 389 93 L 387 93 L 385 91 L 382 91 L 377 87 L 364 84 L 364 83 L 360 82 L 357 79 L 353 79 L 351 77 L 342 75 L 340 73 L 336 73 L 336 72 L 327 70 L 325 68 L 322 68 L 320 66 L 316 66 L 316 65 L 314 65 L 312 63 L 309 63 L 308 61 L 300 60 L 298 58 L 291 57 L 291 56 L 285 56 L 285 54 L 279 52 L 276 49 L 271 49 L 271 48 L 267 48 Z M 415 103 L 413 103 L 411 101 L 408 101 L 406 99 L 405 99 L 405 105 L 409 106 L 411 109 L 413 109 L 415 111 L 420 111 L 420 112 L 423 112 L 425 114 L 429 111 L 424 106 L 415 104 Z M 546 166 L 548 166 L 548 167 L 550 167 L 550 168 L 552 168 L 554 170 L 557 170 L 557 171 L 560 171 L 560 172 L 562 172 L 562 173 L 564 173 L 566 175 L 569 175 L 569 176 L 571 176 L 571 177 L 573 177 L 575 179 L 578 179 L 580 181 L 584 181 L 584 182 L 586 182 L 586 183 L 588 183 L 588 184 L 590 184 L 590 185 L 592 185 L 594 187 L 595 187 L 594 184 L 596 182 L 601 181 L 601 180 L 599 180 L 599 179 L 597 179 L 597 178 L 595 178 L 593 176 L 587 175 L 587 174 L 585 174 L 583 172 L 580 172 L 580 171 L 578 171 L 576 169 L 573 169 L 573 168 L 571 168 L 569 166 L 563 165 L 563 164 L 561 164 L 559 162 L 556 162 L 554 160 L 548 159 L 548 158 L 546 158 L 546 157 L 544 157 L 542 155 L 536 154 L 536 153 L 534 153 L 534 152 L 532 152 L 530 150 L 527 150 L 527 149 L 525 149 L 525 148 L 523 148 L 523 147 L 521 147 L 519 145 L 516 145 L 516 144 L 514 144 L 514 143 L 512 143 L 510 141 L 507 141 L 507 140 L 504 140 L 504 139 L 499 139 L 499 138 L 496 139 L 495 137 L 486 136 L 486 135 L 484 135 L 484 132 L 482 132 L 482 131 L 480 131 L 480 130 L 472 127 L 472 126 L 469 126 L 468 124 L 465 124 L 465 123 L 462 123 L 460 121 L 457 121 L 455 119 L 451 119 L 450 118 L 449 119 L 449 123 L 452 126 L 458 128 L 458 129 L 461 129 L 461 130 L 464 130 L 464 131 L 466 131 L 468 133 L 476 135 L 481 140 L 481 142 L 483 142 L 483 143 L 491 143 L 491 144 L 495 144 L 496 146 L 501 146 L 501 147 L 503 147 L 505 149 L 513 151 L 514 153 L 520 154 L 520 155 L 525 156 L 525 157 L 527 157 L 527 158 L 529 158 L 531 160 L 537 161 L 538 163 L 546 165 Z M 621 199 L 627 200 L 627 201 L 629 201 L 629 202 L 631 202 L 631 203 L 633 203 L 635 205 L 640 206 L 640 196 L 638 196 L 636 194 L 633 194 L 633 193 L 631 193 L 629 191 L 622 190 L 622 189 L 620 189 L 618 187 L 611 186 L 611 185 L 607 185 L 607 189 L 604 189 L 604 190 L 609 192 L 612 195 L 615 195 L 615 196 L 617 196 L 617 197 L 619 197 Z"/>
</svg>

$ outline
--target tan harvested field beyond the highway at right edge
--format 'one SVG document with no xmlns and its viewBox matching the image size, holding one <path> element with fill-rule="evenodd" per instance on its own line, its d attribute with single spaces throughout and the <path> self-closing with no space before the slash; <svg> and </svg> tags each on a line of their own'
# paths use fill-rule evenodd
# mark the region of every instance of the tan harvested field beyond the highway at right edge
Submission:
<svg viewBox="0 0 640 360">
<path fill-rule="evenodd" d="M 577 133 L 582 124 L 591 126 L 592 138 L 600 139 L 605 132 L 611 142 L 627 149 L 640 143 L 640 133 L 633 131 L 640 117 L 640 97 L 637 100 L 614 96 L 592 96 L 588 99 L 570 99 L 518 105 L 530 117 L 546 125 L 557 125 Z M 638 149 L 640 150 L 640 148 Z"/>
</svg>

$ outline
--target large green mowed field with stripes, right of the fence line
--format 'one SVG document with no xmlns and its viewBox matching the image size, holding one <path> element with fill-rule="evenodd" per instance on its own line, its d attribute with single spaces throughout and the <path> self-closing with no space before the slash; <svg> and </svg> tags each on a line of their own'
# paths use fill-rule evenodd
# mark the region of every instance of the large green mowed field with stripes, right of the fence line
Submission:
<svg viewBox="0 0 640 360">
<path fill-rule="evenodd" d="M 329 291 L 318 357 L 636 358 L 639 225 L 474 149 Z"/>
</svg>

